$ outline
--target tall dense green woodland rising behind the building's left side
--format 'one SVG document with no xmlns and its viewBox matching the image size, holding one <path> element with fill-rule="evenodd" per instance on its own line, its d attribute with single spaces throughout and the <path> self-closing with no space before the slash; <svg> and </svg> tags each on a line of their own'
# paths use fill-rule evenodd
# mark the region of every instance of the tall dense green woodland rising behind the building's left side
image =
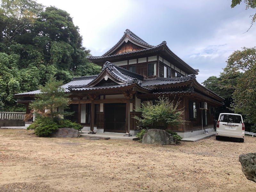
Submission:
<svg viewBox="0 0 256 192">
<path fill-rule="evenodd" d="M 51 76 L 64 83 L 74 76 L 96 75 L 101 67 L 89 63 L 79 28 L 68 12 L 35 0 L 2 0 L 0 6 L 0 101 L 13 107 L 13 94 L 37 90 Z"/>
</svg>

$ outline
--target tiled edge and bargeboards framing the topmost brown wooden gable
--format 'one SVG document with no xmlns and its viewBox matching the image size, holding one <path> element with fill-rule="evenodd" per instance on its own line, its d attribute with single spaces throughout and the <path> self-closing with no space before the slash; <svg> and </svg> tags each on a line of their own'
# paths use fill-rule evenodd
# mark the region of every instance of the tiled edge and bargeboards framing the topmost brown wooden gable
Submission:
<svg viewBox="0 0 256 192">
<path fill-rule="evenodd" d="M 140 37 L 132 33 L 132 31 L 130 31 L 129 29 L 126 29 L 122 38 L 110 50 L 104 53 L 102 57 L 115 54 L 116 50 L 124 46 L 124 42 L 127 43 L 128 41 L 136 45 L 137 50 L 151 49 L 155 47 L 153 45 L 148 44 L 146 41 L 142 40 Z"/>
</svg>

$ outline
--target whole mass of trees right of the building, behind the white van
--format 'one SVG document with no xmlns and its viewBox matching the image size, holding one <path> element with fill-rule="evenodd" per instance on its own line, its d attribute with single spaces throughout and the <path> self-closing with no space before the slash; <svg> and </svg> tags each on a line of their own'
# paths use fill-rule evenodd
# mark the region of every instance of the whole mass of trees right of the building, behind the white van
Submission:
<svg viewBox="0 0 256 192">
<path fill-rule="evenodd" d="M 224 107 L 243 115 L 244 122 L 250 123 L 251 131 L 255 132 L 256 47 L 244 47 L 233 52 L 220 78 L 209 77 L 203 84 L 225 98 Z M 226 99 L 230 102 L 227 103 Z M 221 112 L 226 111 L 222 109 Z"/>
</svg>

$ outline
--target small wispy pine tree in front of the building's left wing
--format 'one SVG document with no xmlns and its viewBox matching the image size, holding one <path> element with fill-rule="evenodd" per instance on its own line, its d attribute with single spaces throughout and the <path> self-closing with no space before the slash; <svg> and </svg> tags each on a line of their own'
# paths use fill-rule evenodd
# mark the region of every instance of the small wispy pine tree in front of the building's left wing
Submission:
<svg viewBox="0 0 256 192">
<path fill-rule="evenodd" d="M 35 109 L 43 116 L 48 116 L 52 121 L 54 117 L 68 115 L 64 109 L 68 107 L 68 93 L 61 87 L 62 81 L 51 78 L 45 86 L 40 85 L 40 94 L 36 94 L 36 100 L 30 104 L 30 108 Z M 61 109 L 61 110 L 60 110 Z"/>
</svg>

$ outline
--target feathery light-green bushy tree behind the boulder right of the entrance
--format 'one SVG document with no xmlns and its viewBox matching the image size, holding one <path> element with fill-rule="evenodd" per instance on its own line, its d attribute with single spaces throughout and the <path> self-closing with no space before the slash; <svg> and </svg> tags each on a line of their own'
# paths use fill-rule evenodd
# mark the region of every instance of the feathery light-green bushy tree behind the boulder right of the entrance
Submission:
<svg viewBox="0 0 256 192">
<path fill-rule="evenodd" d="M 142 103 L 140 112 L 141 118 L 133 116 L 138 120 L 139 124 L 143 127 L 156 126 L 161 128 L 164 125 L 164 129 L 167 129 L 168 125 L 180 125 L 185 121 L 182 118 L 183 109 L 178 109 L 180 101 L 174 105 L 174 100 L 170 101 L 168 98 L 159 97 L 156 100 L 156 104 L 147 101 L 146 104 Z"/>
</svg>

